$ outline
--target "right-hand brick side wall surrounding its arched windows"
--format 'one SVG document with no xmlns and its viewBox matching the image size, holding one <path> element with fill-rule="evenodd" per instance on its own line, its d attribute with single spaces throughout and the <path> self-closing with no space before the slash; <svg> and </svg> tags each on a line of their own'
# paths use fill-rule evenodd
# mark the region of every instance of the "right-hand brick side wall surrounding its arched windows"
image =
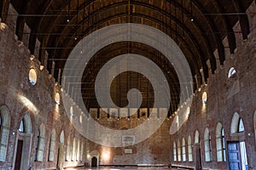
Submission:
<svg viewBox="0 0 256 170">
<path fill-rule="evenodd" d="M 172 164 L 195 167 L 195 131 L 200 133 L 201 164 L 203 169 L 229 169 L 228 161 L 217 161 L 216 126 L 222 123 L 226 144 L 231 141 L 245 141 L 247 149 L 248 169 L 256 169 L 255 120 L 256 111 L 256 7 L 255 2 L 247 9 L 251 32 L 247 40 L 242 40 L 239 23 L 234 26 L 237 48 L 235 54 L 230 54 L 227 38 L 224 38 L 226 60 L 224 65 L 218 65 L 214 74 L 210 75 L 207 84 L 198 89 L 193 98 L 188 121 L 175 134 L 171 135 L 173 142 L 191 136 L 194 161 L 173 161 Z M 228 78 L 230 68 L 236 69 L 236 76 Z M 202 94 L 207 92 L 207 104 L 203 105 Z M 243 133 L 230 133 L 232 117 L 237 112 L 244 123 Z M 173 119 L 172 119 L 173 121 Z M 204 131 L 210 129 L 212 142 L 212 161 L 205 161 Z M 227 146 L 227 145 L 226 145 Z M 188 148 L 186 145 L 186 151 Z M 228 160 L 228 152 L 226 149 Z"/>
</svg>

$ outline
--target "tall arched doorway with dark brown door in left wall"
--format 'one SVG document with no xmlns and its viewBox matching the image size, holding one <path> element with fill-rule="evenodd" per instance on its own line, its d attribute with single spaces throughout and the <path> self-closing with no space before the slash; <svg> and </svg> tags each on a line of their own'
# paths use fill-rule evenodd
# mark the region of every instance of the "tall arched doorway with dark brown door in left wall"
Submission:
<svg viewBox="0 0 256 170">
<path fill-rule="evenodd" d="M 15 169 L 28 169 L 32 145 L 32 122 L 28 114 L 20 121 L 15 144 Z"/>
</svg>

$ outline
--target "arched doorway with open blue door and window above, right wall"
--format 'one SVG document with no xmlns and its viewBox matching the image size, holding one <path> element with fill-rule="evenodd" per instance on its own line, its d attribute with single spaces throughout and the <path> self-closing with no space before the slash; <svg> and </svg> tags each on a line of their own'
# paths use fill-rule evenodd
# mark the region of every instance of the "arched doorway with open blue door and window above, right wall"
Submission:
<svg viewBox="0 0 256 170">
<path fill-rule="evenodd" d="M 247 170 L 246 143 L 242 137 L 245 127 L 241 117 L 235 113 L 230 127 L 232 140 L 228 142 L 228 156 L 230 169 Z M 244 135 L 244 134 L 243 134 Z"/>
</svg>

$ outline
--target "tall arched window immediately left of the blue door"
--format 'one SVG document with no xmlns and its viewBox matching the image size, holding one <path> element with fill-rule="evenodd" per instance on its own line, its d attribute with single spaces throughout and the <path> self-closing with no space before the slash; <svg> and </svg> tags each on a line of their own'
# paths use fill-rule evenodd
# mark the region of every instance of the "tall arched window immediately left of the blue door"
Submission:
<svg viewBox="0 0 256 170">
<path fill-rule="evenodd" d="M 218 122 L 216 127 L 216 150 L 217 161 L 226 161 L 224 128 L 222 127 L 222 124 L 220 122 Z"/>
</svg>

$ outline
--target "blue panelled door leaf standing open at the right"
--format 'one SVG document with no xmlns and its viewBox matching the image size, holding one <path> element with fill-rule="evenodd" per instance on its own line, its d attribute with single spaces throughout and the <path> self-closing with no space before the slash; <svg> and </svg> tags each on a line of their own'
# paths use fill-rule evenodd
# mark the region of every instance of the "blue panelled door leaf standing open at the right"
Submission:
<svg viewBox="0 0 256 170">
<path fill-rule="evenodd" d="M 241 170 L 241 156 L 239 142 L 228 142 L 230 170 Z"/>
</svg>

